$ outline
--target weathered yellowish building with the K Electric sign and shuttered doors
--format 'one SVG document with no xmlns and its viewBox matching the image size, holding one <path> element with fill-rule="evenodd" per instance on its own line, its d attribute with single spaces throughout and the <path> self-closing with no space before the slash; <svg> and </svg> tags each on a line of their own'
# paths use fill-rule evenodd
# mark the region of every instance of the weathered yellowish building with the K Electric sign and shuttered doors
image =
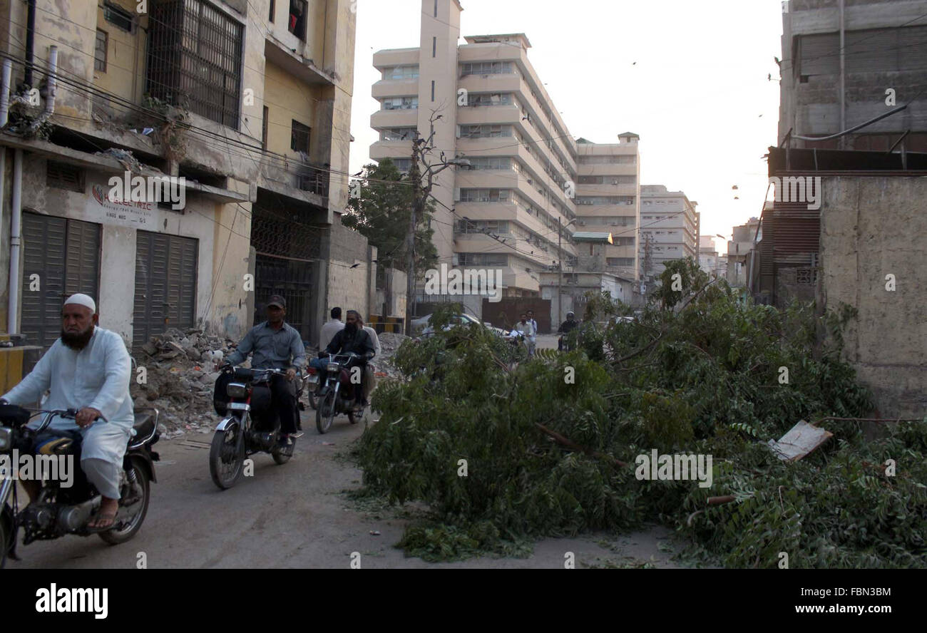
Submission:
<svg viewBox="0 0 927 633">
<path fill-rule="evenodd" d="M 353 263 L 329 257 L 348 197 L 330 172 L 348 171 L 351 4 L 0 6 L 12 93 L 0 121 L 8 113 L 0 332 L 49 344 L 62 297 L 80 291 L 136 345 L 169 326 L 235 337 L 276 293 L 314 340 Z M 127 171 L 183 178 L 185 205 L 118 199 L 110 179 Z"/>
</svg>

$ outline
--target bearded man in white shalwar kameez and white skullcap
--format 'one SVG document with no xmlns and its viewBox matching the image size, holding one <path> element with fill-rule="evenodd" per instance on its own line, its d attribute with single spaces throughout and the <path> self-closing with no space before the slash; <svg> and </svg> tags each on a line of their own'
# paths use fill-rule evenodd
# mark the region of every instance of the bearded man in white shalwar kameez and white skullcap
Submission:
<svg viewBox="0 0 927 633">
<path fill-rule="evenodd" d="M 61 337 L 35 365 L 29 375 L 2 399 L 11 404 L 36 402 L 51 389 L 43 409 L 74 409 L 76 420 L 55 417 L 50 426 L 57 430 L 81 429 L 81 468 L 103 500 L 92 528 L 112 525 L 119 507 L 120 470 L 134 424 L 133 402 L 129 395 L 132 361 L 120 335 L 96 324 L 94 300 L 72 295 L 61 310 Z M 97 420 L 100 415 L 108 422 Z M 32 423 L 38 424 L 38 421 Z M 37 492 L 36 482 L 27 491 Z"/>
</svg>

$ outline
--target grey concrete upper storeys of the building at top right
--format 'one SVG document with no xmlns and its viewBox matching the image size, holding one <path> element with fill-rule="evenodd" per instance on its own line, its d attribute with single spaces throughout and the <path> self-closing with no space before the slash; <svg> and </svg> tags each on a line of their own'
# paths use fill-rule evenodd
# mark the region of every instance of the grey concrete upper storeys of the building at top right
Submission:
<svg viewBox="0 0 927 633">
<path fill-rule="evenodd" d="M 780 143 L 791 131 L 793 147 L 927 151 L 925 15 L 927 0 L 783 3 Z M 843 132 L 906 104 L 839 138 L 794 138 Z"/>
</svg>

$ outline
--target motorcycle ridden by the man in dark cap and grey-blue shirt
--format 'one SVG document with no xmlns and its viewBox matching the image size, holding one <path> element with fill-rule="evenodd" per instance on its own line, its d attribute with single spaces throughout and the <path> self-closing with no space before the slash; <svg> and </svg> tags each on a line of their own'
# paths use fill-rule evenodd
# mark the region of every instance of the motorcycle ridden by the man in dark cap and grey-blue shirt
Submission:
<svg viewBox="0 0 927 633">
<path fill-rule="evenodd" d="M 244 475 L 249 455 L 267 452 L 278 464 L 293 457 L 296 440 L 302 433 L 291 435 L 288 446 L 280 443 L 280 416 L 273 408 L 270 387 L 275 375 L 285 376 L 286 370 L 226 365 L 222 368 L 225 379 L 221 376 L 216 381 L 213 406 L 225 417 L 212 436 L 210 475 L 212 482 L 223 490 L 235 486 Z M 297 385 L 297 398 L 300 390 Z"/>
</svg>

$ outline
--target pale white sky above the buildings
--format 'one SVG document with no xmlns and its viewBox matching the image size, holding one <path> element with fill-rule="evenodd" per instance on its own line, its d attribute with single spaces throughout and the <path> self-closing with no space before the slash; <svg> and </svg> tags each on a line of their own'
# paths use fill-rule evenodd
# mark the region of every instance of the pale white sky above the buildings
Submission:
<svg viewBox="0 0 927 633">
<path fill-rule="evenodd" d="M 730 239 L 731 227 L 759 216 L 768 184 L 762 157 L 778 143 L 780 0 L 461 4 L 462 36 L 527 34 L 528 59 L 574 138 L 616 143 L 618 133 L 640 134 L 641 184 L 697 201 L 703 235 Z M 373 54 L 417 46 L 420 13 L 421 0 L 358 0 L 351 173 L 370 162 L 376 141 Z"/>
</svg>

